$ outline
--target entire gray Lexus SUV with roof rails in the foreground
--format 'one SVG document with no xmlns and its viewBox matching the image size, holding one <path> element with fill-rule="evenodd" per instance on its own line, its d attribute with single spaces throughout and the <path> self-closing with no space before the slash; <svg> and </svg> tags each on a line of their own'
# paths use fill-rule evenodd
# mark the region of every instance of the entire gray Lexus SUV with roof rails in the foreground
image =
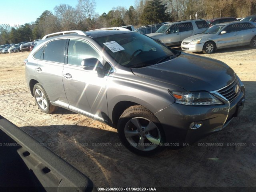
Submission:
<svg viewBox="0 0 256 192">
<path fill-rule="evenodd" d="M 49 34 L 24 62 L 40 110 L 60 106 L 104 122 L 140 155 L 222 130 L 245 101 L 243 83 L 223 62 L 172 50 L 138 32 Z"/>
</svg>

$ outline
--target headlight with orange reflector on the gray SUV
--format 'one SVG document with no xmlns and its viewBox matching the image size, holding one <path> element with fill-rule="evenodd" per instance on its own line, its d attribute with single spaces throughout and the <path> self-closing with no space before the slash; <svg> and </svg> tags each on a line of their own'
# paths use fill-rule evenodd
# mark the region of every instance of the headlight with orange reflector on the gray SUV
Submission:
<svg viewBox="0 0 256 192">
<path fill-rule="evenodd" d="M 218 98 L 206 91 L 197 92 L 174 92 L 169 90 L 174 96 L 175 102 L 183 105 L 216 105 L 222 104 Z"/>
</svg>

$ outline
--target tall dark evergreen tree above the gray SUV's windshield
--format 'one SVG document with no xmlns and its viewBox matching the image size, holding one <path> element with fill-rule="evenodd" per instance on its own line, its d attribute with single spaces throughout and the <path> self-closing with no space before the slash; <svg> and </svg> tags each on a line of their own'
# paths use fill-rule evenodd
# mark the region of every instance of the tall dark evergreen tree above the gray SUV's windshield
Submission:
<svg viewBox="0 0 256 192">
<path fill-rule="evenodd" d="M 144 24 L 155 24 L 171 20 L 170 14 L 166 13 L 166 4 L 161 0 L 147 1 L 141 15 Z"/>
</svg>

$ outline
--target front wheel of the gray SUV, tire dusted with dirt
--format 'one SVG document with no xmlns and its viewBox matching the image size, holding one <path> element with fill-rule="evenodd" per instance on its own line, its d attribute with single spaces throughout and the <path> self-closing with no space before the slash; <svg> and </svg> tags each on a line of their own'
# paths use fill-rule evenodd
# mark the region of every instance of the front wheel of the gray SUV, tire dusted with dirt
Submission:
<svg viewBox="0 0 256 192">
<path fill-rule="evenodd" d="M 143 106 L 126 109 L 117 124 L 118 136 L 128 150 L 152 156 L 164 149 L 164 131 L 154 114 Z"/>
</svg>

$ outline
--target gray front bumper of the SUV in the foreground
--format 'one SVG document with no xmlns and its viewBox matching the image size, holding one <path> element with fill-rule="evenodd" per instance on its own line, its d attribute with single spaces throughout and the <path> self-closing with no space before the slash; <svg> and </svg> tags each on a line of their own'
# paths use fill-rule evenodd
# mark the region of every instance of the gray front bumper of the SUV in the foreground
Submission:
<svg viewBox="0 0 256 192">
<path fill-rule="evenodd" d="M 242 110 L 245 102 L 245 89 L 241 86 L 241 92 L 232 102 L 221 105 L 187 106 L 173 103 L 157 112 L 158 118 L 164 129 L 166 143 L 179 144 L 193 143 L 200 138 L 222 130 L 233 117 Z M 191 129 L 192 122 L 202 122 L 202 126 Z"/>
</svg>

